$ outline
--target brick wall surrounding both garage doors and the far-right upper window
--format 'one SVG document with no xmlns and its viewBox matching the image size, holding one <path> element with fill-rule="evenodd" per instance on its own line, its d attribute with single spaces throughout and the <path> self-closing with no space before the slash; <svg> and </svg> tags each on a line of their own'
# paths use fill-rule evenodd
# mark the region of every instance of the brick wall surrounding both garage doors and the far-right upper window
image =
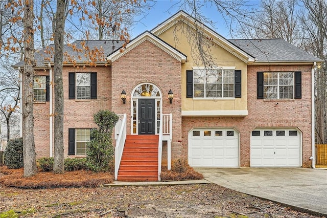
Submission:
<svg viewBox="0 0 327 218">
<path fill-rule="evenodd" d="M 302 98 L 256 99 L 256 72 L 301 71 Z M 248 116 L 183 117 L 182 157 L 188 158 L 188 133 L 194 127 L 233 127 L 240 132 L 240 166 L 250 166 L 250 135 L 256 127 L 297 127 L 302 133 L 302 166 L 311 167 L 311 66 L 248 66 Z M 276 104 L 278 103 L 278 104 Z"/>
</svg>

